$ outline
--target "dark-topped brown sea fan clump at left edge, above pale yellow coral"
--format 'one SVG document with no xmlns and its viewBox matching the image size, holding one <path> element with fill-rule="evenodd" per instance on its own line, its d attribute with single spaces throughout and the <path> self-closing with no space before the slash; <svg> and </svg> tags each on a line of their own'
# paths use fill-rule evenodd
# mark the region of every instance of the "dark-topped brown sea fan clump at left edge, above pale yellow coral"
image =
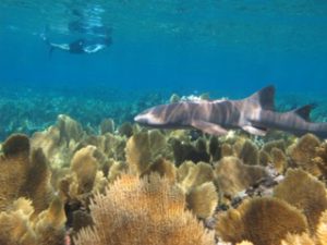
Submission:
<svg viewBox="0 0 327 245">
<path fill-rule="evenodd" d="M 4 142 L 0 166 L 0 210 L 20 196 L 33 200 L 36 213 L 48 207 L 52 191 L 47 160 L 40 149 L 29 156 L 26 136 L 12 135 Z"/>
</svg>

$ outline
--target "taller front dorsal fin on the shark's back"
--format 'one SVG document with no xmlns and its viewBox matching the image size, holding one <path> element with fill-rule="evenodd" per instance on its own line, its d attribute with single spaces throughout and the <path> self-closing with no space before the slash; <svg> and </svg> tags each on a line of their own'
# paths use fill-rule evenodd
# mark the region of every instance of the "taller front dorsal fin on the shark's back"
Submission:
<svg viewBox="0 0 327 245">
<path fill-rule="evenodd" d="M 254 103 L 258 103 L 264 110 L 275 110 L 275 87 L 267 86 L 247 98 Z"/>
</svg>

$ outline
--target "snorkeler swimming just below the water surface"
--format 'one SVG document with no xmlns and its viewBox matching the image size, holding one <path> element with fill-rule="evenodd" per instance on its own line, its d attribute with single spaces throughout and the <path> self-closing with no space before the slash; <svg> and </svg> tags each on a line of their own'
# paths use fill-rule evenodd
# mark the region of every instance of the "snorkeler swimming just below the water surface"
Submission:
<svg viewBox="0 0 327 245">
<path fill-rule="evenodd" d="M 55 49 L 63 50 L 70 53 L 95 53 L 98 52 L 107 47 L 109 47 L 112 44 L 112 39 L 110 36 L 108 37 L 101 37 L 101 38 L 95 38 L 95 39 L 85 39 L 80 38 L 75 41 L 72 41 L 70 44 L 55 44 L 49 41 L 49 39 L 46 37 L 46 35 L 41 35 L 43 40 L 50 46 L 50 54 Z"/>
</svg>

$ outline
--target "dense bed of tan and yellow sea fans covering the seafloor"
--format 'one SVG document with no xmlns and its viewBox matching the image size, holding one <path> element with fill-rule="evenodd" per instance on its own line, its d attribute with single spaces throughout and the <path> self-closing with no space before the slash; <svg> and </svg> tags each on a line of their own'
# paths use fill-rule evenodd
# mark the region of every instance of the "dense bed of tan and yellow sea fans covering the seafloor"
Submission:
<svg viewBox="0 0 327 245">
<path fill-rule="evenodd" d="M 1 245 L 324 245 L 327 143 L 68 115 L 1 144 Z"/>
</svg>

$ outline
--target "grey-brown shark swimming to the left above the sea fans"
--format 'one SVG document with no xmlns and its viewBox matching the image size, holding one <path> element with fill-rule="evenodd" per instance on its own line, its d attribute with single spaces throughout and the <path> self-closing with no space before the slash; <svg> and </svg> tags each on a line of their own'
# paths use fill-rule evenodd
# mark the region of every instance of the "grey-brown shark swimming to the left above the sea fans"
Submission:
<svg viewBox="0 0 327 245">
<path fill-rule="evenodd" d="M 327 138 L 327 123 L 310 122 L 312 105 L 289 112 L 274 111 L 275 88 L 263 88 L 242 100 L 181 101 L 150 108 L 135 117 L 140 124 L 161 127 L 194 127 L 213 135 L 242 128 L 265 135 L 268 128 L 301 136 L 313 133 Z"/>
</svg>

